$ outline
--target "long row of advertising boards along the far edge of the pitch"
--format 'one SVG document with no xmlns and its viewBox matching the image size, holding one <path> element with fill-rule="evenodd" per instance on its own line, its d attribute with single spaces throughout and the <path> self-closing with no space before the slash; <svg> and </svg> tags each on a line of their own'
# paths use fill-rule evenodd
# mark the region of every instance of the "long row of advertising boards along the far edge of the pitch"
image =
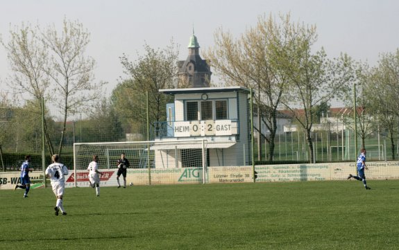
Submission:
<svg viewBox="0 0 399 250">
<path fill-rule="evenodd" d="M 367 179 L 399 179 L 399 163 L 391 162 L 369 162 L 366 163 Z M 100 170 L 104 175 L 101 176 L 101 186 L 117 186 L 117 169 Z M 126 176 L 127 185 L 171 185 L 171 184 L 202 184 L 202 168 L 165 168 L 156 169 L 128 169 Z M 356 163 L 318 163 L 318 164 L 285 164 L 285 165 L 265 165 L 255 166 L 257 182 L 271 181 L 337 181 L 346 180 L 348 175 L 357 175 Z M 0 189 L 13 189 L 20 183 L 19 172 L 1 172 Z M 31 177 L 33 188 L 43 186 L 43 173 L 32 172 Z M 150 178 L 151 177 L 151 178 Z M 88 187 L 87 170 L 76 172 L 69 171 L 65 177 L 66 187 Z M 124 184 L 120 177 L 121 185 Z M 205 171 L 205 183 L 244 183 L 253 182 L 252 166 L 227 166 L 227 167 L 208 167 Z"/>
</svg>

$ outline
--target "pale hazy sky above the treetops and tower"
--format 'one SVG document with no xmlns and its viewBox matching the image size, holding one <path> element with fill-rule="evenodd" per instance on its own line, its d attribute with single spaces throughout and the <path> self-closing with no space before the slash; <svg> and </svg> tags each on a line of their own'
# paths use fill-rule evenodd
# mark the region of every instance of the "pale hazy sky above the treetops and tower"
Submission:
<svg viewBox="0 0 399 250">
<path fill-rule="evenodd" d="M 38 22 L 43 28 L 49 24 L 60 27 L 65 17 L 78 19 L 91 33 L 87 55 L 96 60 L 96 80 L 109 82 L 109 93 L 119 76 L 126 76 L 119 57 L 126 53 L 135 60 L 144 42 L 165 48 L 173 38 L 180 45 L 180 60 L 185 60 L 193 24 L 201 54 L 213 46 L 217 28 L 238 36 L 255 26 L 260 15 L 270 13 L 291 12 L 292 21 L 316 24 L 317 46 L 323 46 L 329 57 L 346 52 L 373 66 L 379 53 L 399 47 L 398 11 L 397 0 L 9 0 L 1 1 L 0 34 L 8 41 L 10 25 L 21 26 L 23 21 Z M 9 73 L 1 46 L 0 90 L 8 89 Z"/>
</svg>

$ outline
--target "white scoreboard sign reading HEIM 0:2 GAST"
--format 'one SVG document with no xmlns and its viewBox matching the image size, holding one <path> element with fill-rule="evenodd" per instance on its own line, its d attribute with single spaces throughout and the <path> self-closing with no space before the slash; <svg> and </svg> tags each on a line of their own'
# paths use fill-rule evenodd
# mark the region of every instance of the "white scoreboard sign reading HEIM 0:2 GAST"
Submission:
<svg viewBox="0 0 399 250">
<path fill-rule="evenodd" d="M 175 122 L 175 137 L 230 136 L 237 134 L 237 122 L 231 120 L 193 120 Z"/>
</svg>

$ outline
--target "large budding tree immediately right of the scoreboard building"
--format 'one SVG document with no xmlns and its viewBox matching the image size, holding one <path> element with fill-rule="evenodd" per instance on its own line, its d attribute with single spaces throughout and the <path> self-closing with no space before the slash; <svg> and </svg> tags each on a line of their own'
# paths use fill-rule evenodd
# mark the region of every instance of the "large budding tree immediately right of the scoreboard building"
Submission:
<svg viewBox="0 0 399 250">
<path fill-rule="evenodd" d="M 290 16 L 280 16 L 280 23 L 269 17 L 259 17 L 257 26 L 249 28 L 238 39 L 221 28 L 214 34 L 215 46 L 205 52 L 215 71 L 226 85 L 240 85 L 255 89 L 258 132 L 260 120 L 269 130 L 263 134 L 269 143 L 269 161 L 274 157 L 274 140 L 277 132 L 277 115 L 282 93 L 287 86 L 287 75 L 282 70 L 279 54 L 293 43 L 295 25 Z M 261 143 L 258 137 L 258 158 Z"/>
</svg>

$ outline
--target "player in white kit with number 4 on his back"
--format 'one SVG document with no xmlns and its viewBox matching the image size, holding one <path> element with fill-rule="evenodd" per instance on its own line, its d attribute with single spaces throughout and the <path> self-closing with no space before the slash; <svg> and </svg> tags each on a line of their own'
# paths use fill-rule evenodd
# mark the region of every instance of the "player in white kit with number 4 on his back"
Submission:
<svg viewBox="0 0 399 250">
<path fill-rule="evenodd" d="M 53 193 L 57 197 L 56 206 L 54 207 L 56 211 L 55 214 L 58 216 L 58 209 L 60 209 L 62 215 L 67 215 L 62 205 L 62 197 L 64 196 L 65 175 L 68 175 L 68 168 L 59 162 L 60 156 L 58 154 L 54 154 L 53 157 L 51 157 L 51 161 L 53 161 L 53 163 L 47 167 L 46 177 L 51 179 Z"/>
</svg>

